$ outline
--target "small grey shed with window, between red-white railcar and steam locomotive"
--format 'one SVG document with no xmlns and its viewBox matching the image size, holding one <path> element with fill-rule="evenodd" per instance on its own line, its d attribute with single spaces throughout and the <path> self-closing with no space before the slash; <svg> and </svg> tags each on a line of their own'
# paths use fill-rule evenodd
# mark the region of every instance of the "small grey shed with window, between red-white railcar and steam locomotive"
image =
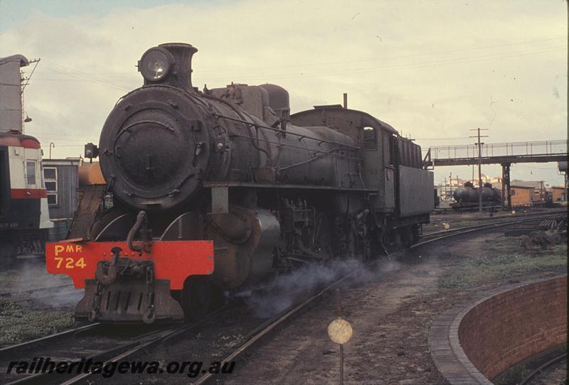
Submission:
<svg viewBox="0 0 569 385">
<path fill-rule="evenodd" d="M 49 217 L 54 224 L 52 241 L 65 238 L 77 209 L 79 164 L 78 158 L 43 159 Z"/>
</svg>

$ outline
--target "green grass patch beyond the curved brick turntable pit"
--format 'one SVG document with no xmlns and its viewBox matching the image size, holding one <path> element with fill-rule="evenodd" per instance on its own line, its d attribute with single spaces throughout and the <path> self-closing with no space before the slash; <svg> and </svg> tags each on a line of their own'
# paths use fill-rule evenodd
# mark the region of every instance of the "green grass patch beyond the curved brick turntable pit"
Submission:
<svg viewBox="0 0 569 385">
<path fill-rule="evenodd" d="M 551 249 L 525 251 L 523 237 L 501 237 L 489 241 L 489 254 L 467 259 L 463 264 L 445 273 L 439 281 L 442 288 L 469 288 L 498 279 L 522 276 L 541 271 L 567 269 L 567 245 Z"/>
</svg>

